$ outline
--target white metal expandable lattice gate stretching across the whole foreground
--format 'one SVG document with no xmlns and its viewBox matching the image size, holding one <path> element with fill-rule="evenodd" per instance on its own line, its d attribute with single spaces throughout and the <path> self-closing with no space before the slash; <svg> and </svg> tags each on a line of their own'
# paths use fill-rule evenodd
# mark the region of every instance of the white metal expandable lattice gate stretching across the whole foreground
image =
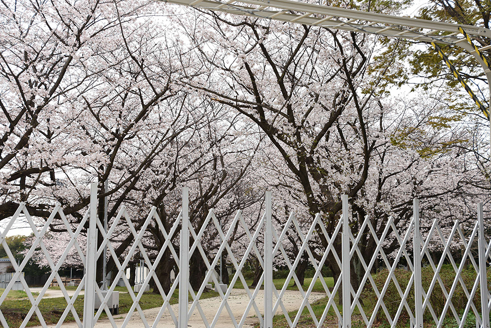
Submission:
<svg viewBox="0 0 491 328">
<path fill-rule="evenodd" d="M 272 221 L 271 192 L 266 192 L 266 210 L 255 226 L 248 226 L 239 211 L 231 223 L 228 224 L 226 231 L 222 231 L 220 222 L 213 210 L 208 213 L 203 224 L 198 227 L 199 229 L 197 231 L 194 229 L 189 220 L 187 188 L 183 190 L 182 210 L 168 230 L 164 228 L 156 208 L 153 208 L 143 223 L 138 224 L 136 227 L 123 207 L 116 218 L 112 220 L 109 230 L 106 232 L 103 223 L 97 218 L 96 184 L 91 186 L 89 210 L 82 220 L 76 224 L 67 220 L 61 205 L 57 204 L 51 216 L 46 219 L 41 230 L 38 231 L 34 219 L 27 211 L 26 205 L 21 203 L 0 236 L 1 243 L 15 270 L 12 279 L 0 297 L 0 323 L 3 327 L 12 327 L 12 325 L 9 326 L 7 323 L 8 318 L 4 314 L 9 312 L 9 306 L 13 305 L 12 302 L 7 303 L 6 298 L 14 282 L 20 281 L 26 290 L 30 308 L 28 308 L 22 323 L 16 326 L 26 327 L 35 313 L 40 325 L 47 327 L 48 324 L 44 320 L 46 313 L 43 313 L 41 301 L 50 284 L 56 281 L 63 299 L 66 301 L 56 327 L 61 327 L 65 321 L 74 321 L 75 324 L 71 324 L 74 327 L 92 328 L 97 327 L 106 320 L 109 321 L 112 327 L 128 327 L 131 326 L 130 320 L 136 312 L 144 327 L 155 328 L 164 323 L 162 318 L 164 312 L 168 311 L 167 324 L 173 324 L 178 328 L 187 328 L 189 318 L 197 311 L 203 327 L 215 327 L 220 320 L 220 314 L 224 312 L 230 318 L 231 325 L 237 328 L 246 327 L 246 318 L 250 311 L 257 318 L 261 327 L 272 328 L 273 314 L 279 311 L 284 316 L 284 326 L 287 325 L 288 327 L 296 327 L 302 316 L 307 316 L 311 318 L 312 325 L 315 325 L 315 327 L 331 327 L 329 325 L 333 323 L 333 325 L 339 325 L 339 327 L 343 328 L 373 327 L 381 321 L 387 322 L 391 327 L 396 327 L 404 318 L 405 322 L 409 322 L 412 327 L 423 327 L 424 322 L 429 322 L 432 326 L 436 325 L 436 327 L 445 327 L 451 321 L 454 326 L 462 328 L 466 322 L 468 325 L 469 320 L 471 320 L 469 318 L 472 317 L 472 320 L 474 320 L 473 318 L 475 317 L 478 327 L 489 328 L 491 298 L 486 263 L 490 261 L 491 243 L 486 240 L 484 234 L 482 204 L 479 204 L 477 220 L 470 228 L 464 229 L 456 221 L 449 231 L 443 231 L 438 224 L 438 220 L 434 219 L 431 227 L 428 227 L 427 231 L 425 230 L 423 234 L 425 236 L 422 236 L 419 227 L 419 205 L 417 200 L 414 200 L 413 203 L 414 216 L 405 229 L 398 229 L 391 218 L 384 222 L 383 225 L 374 225 L 375 221 L 369 217 L 350 221 L 348 196 L 343 196 L 342 202 L 342 215 L 332 228 L 332 233 L 328 233 L 327 225 L 323 222 L 321 215 L 316 215 L 308 227 L 304 227 L 293 213 L 286 222 L 281 224 L 281 231 L 276 231 Z M 24 216 L 31 226 L 34 237 L 32 246 L 28 249 L 24 260 L 20 265 L 17 265 L 5 241 L 5 236 L 15 220 L 21 216 Z M 57 224 L 62 225 L 67 230 L 69 238 L 63 253 L 53 256 L 50 254 L 45 239 L 55 218 L 57 222 L 59 221 Z M 355 222 L 355 220 L 357 221 Z M 87 226 L 87 223 L 89 227 L 87 233 L 88 243 L 83 245 L 84 240 L 81 232 Z M 132 234 L 133 243 L 129 246 L 125 255 L 118 257 L 115 252 L 115 246 L 111 242 L 111 236 L 117 233 L 123 224 Z M 163 246 L 151 256 L 152 260 L 148 255 L 148 250 L 143 245 L 145 231 L 150 225 L 159 229 L 165 239 Z M 179 227 L 181 228 L 181 235 L 178 255 L 171 241 L 173 236 L 177 234 Z M 357 227 L 357 229 L 354 229 L 354 227 Z M 243 242 L 243 250 L 237 253 L 237 251 L 232 249 L 230 239 L 234 231 L 239 228 L 244 232 L 246 242 Z M 207 254 L 202 245 L 203 236 L 210 229 L 216 230 L 219 238 L 218 250 L 212 255 Z M 97 230 L 103 237 L 99 246 L 97 243 Z M 286 236 L 292 233 L 299 238 L 296 256 L 289 255 L 287 249 Z M 190 237 L 192 240 L 191 245 Z M 259 241 L 260 237 L 263 239 L 262 242 Z M 371 241 L 375 245 L 373 251 L 370 252 L 370 256 L 367 256 L 366 252 L 362 252 L 362 248 L 368 245 L 367 241 Z M 476 242 L 478 244 L 477 249 Z M 393 251 L 390 254 L 387 254 L 384 250 L 387 243 L 392 244 L 391 249 Z M 437 247 L 439 249 L 437 256 L 439 259 L 430 250 L 430 247 L 434 247 L 435 243 L 440 243 L 440 247 Z M 313 247 L 313 245 L 321 246 Z M 456 253 L 452 252 L 452 247 L 455 245 L 459 245 L 461 249 L 457 260 L 455 260 Z M 263 248 L 262 251 L 260 248 Z M 80 257 L 85 267 L 85 274 L 78 288 L 73 293 L 72 291 L 69 293 L 63 286 L 58 271 L 72 249 Z M 109 292 L 102 291 L 96 281 L 96 273 L 101 270 L 96 268 L 97 259 L 102 256 L 105 249 L 107 249 L 109 256 L 112 257 L 117 267 L 117 274 L 111 278 L 112 283 L 109 286 Z M 166 250 L 172 254 L 175 266 L 179 270 L 168 293 L 164 292 L 162 282 L 159 281 L 156 274 Z M 139 292 L 135 293 L 126 276 L 125 269 L 137 251 L 141 252 L 149 273 L 144 279 Z M 35 252 L 44 254 L 52 270 L 48 281 L 36 297 L 27 286 L 22 274 L 28 260 Z M 189 281 L 190 258 L 195 252 L 203 259 L 208 269 L 205 279 L 197 291 L 193 291 Z M 216 285 L 219 283 L 216 274 L 213 274 L 213 272 L 222 254 L 227 254 L 235 273 L 233 273 L 225 292 L 218 288 L 219 305 L 214 311 L 213 317 L 209 315 L 207 317 L 206 313 L 209 313 L 209 311 L 205 311 L 201 298 L 210 279 Z M 300 285 L 299 277 L 295 272 L 304 254 L 306 254 L 310 266 L 314 269 L 314 276 L 311 282 L 306 284 L 306 289 Z M 259 283 L 253 289 L 248 287 L 243 273 L 246 261 L 251 256 L 257 258 L 263 270 Z M 285 282 L 278 289 L 273 284 L 274 261 L 278 261 L 289 269 Z M 327 263 L 327 261 L 330 261 L 330 263 Z M 356 274 L 354 271 L 355 263 Z M 336 279 L 333 281 L 332 286 L 328 286 L 322 273 L 323 267 L 328 264 L 331 268 L 334 267 L 336 269 L 333 270 Z M 407 266 L 405 270 L 398 268 L 402 264 Z M 422 264 L 425 268 L 422 268 Z M 375 273 L 380 271 L 377 266 L 385 267 L 382 270 L 382 275 Z M 469 270 L 469 267 L 471 270 Z M 446 268 L 445 273 L 443 273 L 443 268 Z M 453 272 L 450 278 L 448 270 Z M 427 274 L 428 272 L 430 272 L 429 275 Z M 406 278 L 403 279 L 401 277 L 404 274 Z M 423 279 L 422 274 L 426 274 L 426 278 Z M 110 301 L 111 292 L 114 291 L 120 279 L 123 280 L 124 285 L 127 287 L 127 292 L 132 302 L 129 309 L 127 308 L 124 311 L 127 313 L 115 316 L 111 313 L 112 308 L 109 308 L 108 302 Z M 298 288 L 301 300 L 297 308 L 298 311 L 296 313 L 293 312 L 293 314 L 289 312 L 283 301 L 287 289 L 292 289 L 289 286 L 292 279 Z M 151 280 L 153 280 L 155 289 L 159 291 L 163 303 L 158 311 L 154 311 L 152 316 L 149 316 L 141 308 L 140 300 L 144 297 L 146 286 L 149 285 Z M 243 304 L 242 314 L 238 316 L 229 304 L 231 302 L 231 293 L 237 281 L 242 284 L 248 299 L 246 304 Z M 352 283 L 353 281 L 356 282 Z M 323 310 L 321 312 L 318 311 L 319 305 L 314 307 L 309 301 L 309 297 L 314 293 L 319 295 L 319 284 L 325 294 L 324 301 L 319 303 L 325 304 L 322 305 Z M 262 285 L 264 285 L 264 290 L 261 290 Z M 80 307 L 76 306 L 76 302 L 82 298 L 83 287 L 85 287 L 85 293 L 83 311 L 81 311 Z M 172 306 L 172 295 L 178 287 L 178 304 Z M 317 289 L 317 292 L 314 292 L 314 289 Z M 459 290 L 460 295 L 458 300 L 455 297 L 457 290 Z M 189 295 L 191 295 L 191 302 L 188 300 Z M 260 295 L 261 298 L 264 295 L 264 306 L 258 304 Z M 373 296 L 371 303 L 369 303 L 370 297 L 367 297 L 367 295 Z M 436 295 L 440 298 L 439 303 L 435 301 Z M 396 301 L 394 301 L 394 297 Z M 101 305 L 94 310 L 96 301 Z M 304 311 L 304 309 L 306 310 Z M 83 319 L 80 312 L 83 312 Z M 108 319 L 101 319 L 103 313 L 107 314 Z M 69 314 L 71 314 L 73 319 L 67 320 Z"/>
</svg>

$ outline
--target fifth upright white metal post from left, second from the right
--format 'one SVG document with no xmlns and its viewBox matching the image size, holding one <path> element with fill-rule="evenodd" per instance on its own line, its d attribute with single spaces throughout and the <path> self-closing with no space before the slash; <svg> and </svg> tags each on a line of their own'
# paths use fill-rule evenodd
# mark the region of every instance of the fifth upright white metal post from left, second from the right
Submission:
<svg viewBox="0 0 491 328">
<path fill-rule="evenodd" d="M 414 219 L 414 236 L 412 253 L 414 256 L 414 308 L 415 326 L 423 328 L 423 284 L 421 278 L 421 235 L 419 233 L 419 199 L 412 201 L 412 215 Z"/>
</svg>

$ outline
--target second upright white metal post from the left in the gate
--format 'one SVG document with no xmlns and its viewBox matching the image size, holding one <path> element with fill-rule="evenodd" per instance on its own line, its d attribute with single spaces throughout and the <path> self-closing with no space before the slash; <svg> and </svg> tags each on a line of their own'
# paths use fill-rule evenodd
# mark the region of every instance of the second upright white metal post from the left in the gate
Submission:
<svg viewBox="0 0 491 328">
<path fill-rule="evenodd" d="M 183 187 L 179 250 L 179 328 L 188 328 L 189 282 L 189 188 Z"/>
</svg>

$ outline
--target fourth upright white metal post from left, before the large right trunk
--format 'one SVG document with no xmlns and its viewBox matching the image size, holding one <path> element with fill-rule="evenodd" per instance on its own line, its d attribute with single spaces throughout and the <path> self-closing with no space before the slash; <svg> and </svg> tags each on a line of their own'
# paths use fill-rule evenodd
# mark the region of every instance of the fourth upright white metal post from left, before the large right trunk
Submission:
<svg viewBox="0 0 491 328">
<path fill-rule="evenodd" d="M 341 236 L 343 282 L 343 328 L 351 327 L 350 221 L 348 195 L 343 195 L 343 234 Z"/>
</svg>

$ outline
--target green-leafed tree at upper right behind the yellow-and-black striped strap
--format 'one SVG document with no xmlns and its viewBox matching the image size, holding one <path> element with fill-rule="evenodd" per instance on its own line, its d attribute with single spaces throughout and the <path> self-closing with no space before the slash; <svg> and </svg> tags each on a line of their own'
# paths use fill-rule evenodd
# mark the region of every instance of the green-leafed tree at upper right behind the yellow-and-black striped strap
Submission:
<svg viewBox="0 0 491 328">
<path fill-rule="evenodd" d="M 430 0 L 418 5 L 417 13 L 411 16 L 459 25 L 490 27 L 491 1 Z M 489 121 L 482 111 L 431 44 L 388 38 L 381 38 L 380 42 L 382 50 L 374 56 L 376 64 L 370 66 L 369 71 L 377 72 L 392 64 L 392 68 L 387 70 L 382 78 L 386 88 L 381 92 L 395 93 L 394 89 L 401 87 L 403 91 L 399 92 L 400 94 L 417 91 L 434 98 L 436 106 L 431 109 L 432 113 L 428 115 L 425 124 L 442 133 L 462 131 L 462 133 L 455 133 L 453 140 L 440 145 L 438 151 L 447 151 L 452 147 L 463 150 L 466 153 L 468 165 L 478 167 L 482 173 L 482 178 L 473 180 L 472 184 L 481 190 L 489 189 Z M 490 45 L 491 39 L 473 36 L 472 42 L 481 48 Z M 484 107 L 488 108 L 490 103 L 488 81 L 483 67 L 474 55 L 455 45 L 440 44 L 440 48 Z M 489 62 L 491 50 L 484 50 L 482 53 Z M 406 128 L 415 129 L 416 127 Z M 396 132 L 391 142 L 401 147 L 409 145 L 418 147 L 420 143 L 418 138 L 411 139 L 405 130 Z M 433 148 L 423 147 L 419 152 L 424 157 L 433 153 L 435 151 Z"/>
</svg>

